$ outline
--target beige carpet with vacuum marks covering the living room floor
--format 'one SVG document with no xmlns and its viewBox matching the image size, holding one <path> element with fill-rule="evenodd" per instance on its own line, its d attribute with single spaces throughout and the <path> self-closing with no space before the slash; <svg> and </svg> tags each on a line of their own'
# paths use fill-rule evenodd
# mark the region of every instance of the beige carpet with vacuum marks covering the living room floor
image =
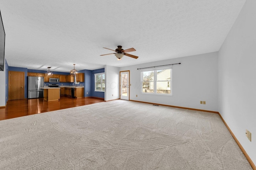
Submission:
<svg viewBox="0 0 256 170">
<path fill-rule="evenodd" d="M 252 168 L 216 113 L 115 100 L 0 121 L 0 169 Z"/>
</svg>

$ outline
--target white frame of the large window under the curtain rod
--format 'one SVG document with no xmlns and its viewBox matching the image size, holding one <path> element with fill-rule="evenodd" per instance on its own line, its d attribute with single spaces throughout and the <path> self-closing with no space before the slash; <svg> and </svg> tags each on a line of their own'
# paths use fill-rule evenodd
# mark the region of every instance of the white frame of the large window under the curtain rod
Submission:
<svg viewBox="0 0 256 170">
<path fill-rule="evenodd" d="M 170 69 L 170 80 L 157 80 L 157 71 L 158 70 L 167 70 Z M 143 92 L 143 72 L 147 72 L 147 71 L 152 71 L 154 72 L 154 80 L 152 81 L 154 83 L 154 92 L 150 93 L 150 92 Z M 141 75 L 141 94 L 153 94 L 153 95 L 165 95 L 165 96 L 172 96 L 172 66 L 168 66 L 168 67 L 157 67 L 157 68 L 149 68 L 149 69 L 143 69 L 140 70 L 140 75 Z M 150 83 L 150 81 L 148 81 Z M 165 94 L 165 93 L 157 93 L 157 82 L 167 82 L 167 88 L 170 88 L 170 94 Z M 168 82 L 170 82 L 170 84 L 168 84 Z M 170 87 L 168 87 L 170 86 Z"/>
</svg>

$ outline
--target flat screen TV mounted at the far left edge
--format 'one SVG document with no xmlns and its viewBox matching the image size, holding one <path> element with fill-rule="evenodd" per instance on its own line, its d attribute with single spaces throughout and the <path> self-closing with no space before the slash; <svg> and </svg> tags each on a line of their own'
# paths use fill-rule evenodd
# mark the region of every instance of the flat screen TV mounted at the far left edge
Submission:
<svg viewBox="0 0 256 170">
<path fill-rule="evenodd" d="M 0 12 L 0 71 L 4 71 L 4 44 L 5 44 L 5 32 L 2 16 Z"/>
</svg>

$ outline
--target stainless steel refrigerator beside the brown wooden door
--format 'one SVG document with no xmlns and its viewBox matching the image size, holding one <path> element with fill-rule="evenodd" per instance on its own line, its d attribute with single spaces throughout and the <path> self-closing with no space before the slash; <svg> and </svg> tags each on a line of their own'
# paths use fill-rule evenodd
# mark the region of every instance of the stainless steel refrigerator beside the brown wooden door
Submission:
<svg viewBox="0 0 256 170">
<path fill-rule="evenodd" d="M 28 98 L 44 97 L 44 77 L 28 76 Z"/>
</svg>

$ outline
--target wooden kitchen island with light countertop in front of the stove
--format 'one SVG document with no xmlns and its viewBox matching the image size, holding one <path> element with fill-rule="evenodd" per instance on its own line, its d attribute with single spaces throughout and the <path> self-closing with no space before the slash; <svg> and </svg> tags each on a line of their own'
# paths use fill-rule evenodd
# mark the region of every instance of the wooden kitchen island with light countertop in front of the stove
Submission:
<svg viewBox="0 0 256 170">
<path fill-rule="evenodd" d="M 43 87 L 44 89 L 44 100 L 60 101 L 60 87 Z"/>
</svg>

